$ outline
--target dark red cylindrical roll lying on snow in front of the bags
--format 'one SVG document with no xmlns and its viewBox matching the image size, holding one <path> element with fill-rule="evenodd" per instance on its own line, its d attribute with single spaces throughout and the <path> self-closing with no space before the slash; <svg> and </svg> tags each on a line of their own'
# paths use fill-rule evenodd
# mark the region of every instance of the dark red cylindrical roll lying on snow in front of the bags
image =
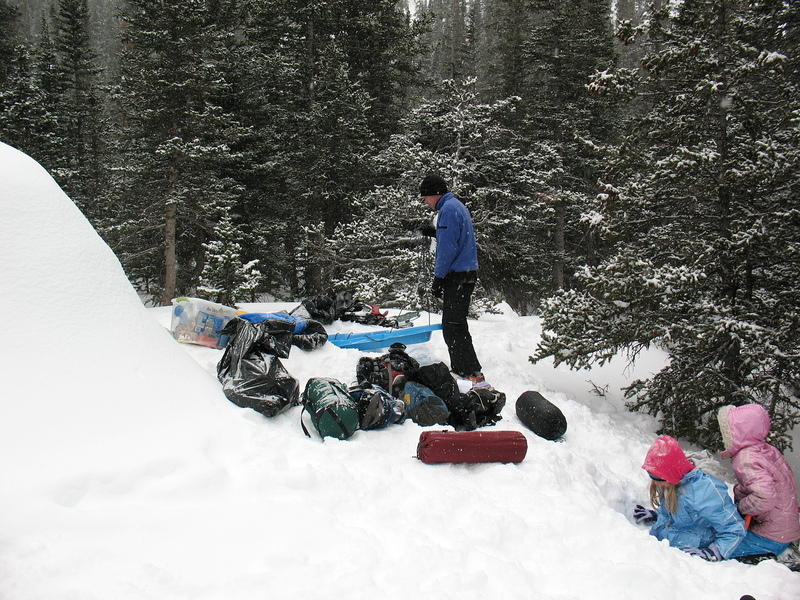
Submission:
<svg viewBox="0 0 800 600">
<path fill-rule="evenodd" d="M 522 462 L 528 441 L 519 431 L 423 431 L 417 458 L 425 464 Z"/>
</svg>

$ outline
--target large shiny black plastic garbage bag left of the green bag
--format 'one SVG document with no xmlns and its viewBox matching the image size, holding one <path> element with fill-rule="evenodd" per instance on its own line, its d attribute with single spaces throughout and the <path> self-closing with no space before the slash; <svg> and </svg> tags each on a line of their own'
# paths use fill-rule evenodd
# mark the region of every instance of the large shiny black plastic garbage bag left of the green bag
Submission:
<svg viewBox="0 0 800 600">
<path fill-rule="evenodd" d="M 300 384 L 278 358 L 289 356 L 293 328 L 282 320 L 238 318 L 226 325 L 231 339 L 217 364 L 217 379 L 228 400 L 267 417 L 299 403 Z"/>
</svg>

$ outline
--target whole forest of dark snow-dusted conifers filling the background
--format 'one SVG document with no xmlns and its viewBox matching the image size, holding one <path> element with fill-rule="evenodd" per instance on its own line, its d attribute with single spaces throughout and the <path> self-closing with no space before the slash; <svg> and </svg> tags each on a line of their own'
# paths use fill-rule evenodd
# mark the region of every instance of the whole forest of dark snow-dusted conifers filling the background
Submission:
<svg viewBox="0 0 800 600">
<path fill-rule="evenodd" d="M 785 446 L 798 5 L 0 0 L 0 139 L 154 303 L 430 306 L 438 172 L 475 221 L 476 305 L 541 316 L 533 360 L 658 345 L 632 408 L 714 446 L 716 408 L 756 401 Z"/>
</svg>

